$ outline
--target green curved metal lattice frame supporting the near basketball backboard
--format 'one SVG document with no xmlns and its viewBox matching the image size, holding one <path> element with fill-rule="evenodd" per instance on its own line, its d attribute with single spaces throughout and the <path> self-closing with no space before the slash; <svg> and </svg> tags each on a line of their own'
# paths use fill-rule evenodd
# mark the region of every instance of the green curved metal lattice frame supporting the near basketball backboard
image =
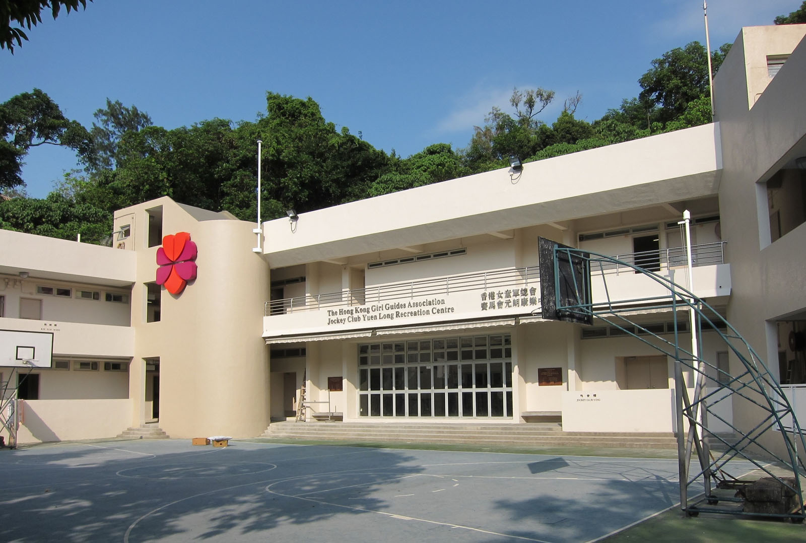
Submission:
<svg viewBox="0 0 806 543">
<path fill-rule="evenodd" d="M 800 475 L 806 474 L 806 465 L 804 465 L 803 458 L 803 455 L 806 454 L 804 433 L 801 431 L 795 412 L 789 404 L 787 396 L 784 394 L 780 384 L 775 379 L 775 376 L 771 374 L 771 371 L 769 371 L 767 366 L 762 362 L 761 357 L 758 356 L 753 347 L 742 338 L 742 335 L 739 334 L 725 318 L 721 317 L 715 309 L 705 303 L 704 300 L 666 277 L 650 272 L 642 267 L 592 251 L 565 247 L 557 243 L 555 243 L 553 251 L 552 260 L 554 264 L 555 284 L 559 284 L 560 280 L 563 279 L 568 288 L 571 288 L 578 294 L 576 300 L 581 301 L 577 304 L 568 304 L 568 297 L 564 296 L 565 305 L 563 305 L 558 288 L 555 292 L 554 303 L 556 313 L 560 318 L 580 322 L 586 319 L 589 321 L 592 317 L 596 317 L 607 322 L 609 325 L 615 326 L 625 334 L 675 359 L 675 403 L 678 429 L 680 507 L 683 511 L 687 512 L 690 516 L 696 516 L 700 512 L 712 512 L 734 515 L 783 517 L 789 518 L 795 522 L 802 522 L 804 518 L 806 518 L 803 489 L 800 483 Z M 563 260 L 566 262 L 570 262 L 571 259 L 574 259 L 575 261 L 581 261 L 587 264 L 587 266 L 578 268 L 571 267 L 570 281 L 567 276 L 561 278 L 558 266 L 558 255 L 563 255 Z M 635 272 L 649 277 L 656 283 L 663 285 L 663 287 L 667 289 L 668 295 L 613 301 L 607 288 L 607 277 L 605 276 L 605 265 L 612 267 L 613 264 L 632 268 Z M 586 270 L 586 272 L 589 270 L 591 276 L 584 277 L 579 275 L 580 269 Z M 566 273 L 568 272 L 567 269 L 564 271 Z M 606 301 L 596 304 L 590 301 L 591 297 L 589 295 L 592 276 L 594 276 L 594 274 L 601 277 L 606 298 Z M 585 296 L 586 289 L 588 296 Z M 543 301 L 544 307 L 545 303 L 546 301 Z M 634 312 L 637 309 L 671 310 L 671 312 L 675 314 L 674 340 L 671 341 L 658 334 L 654 334 L 650 330 L 642 327 L 639 323 L 630 320 L 629 316 L 625 314 Z M 680 345 L 680 330 L 677 318 L 677 314 L 680 311 L 693 311 L 695 313 L 696 338 L 701 337 L 700 333 L 703 325 L 707 325 L 710 331 L 716 331 L 717 334 L 719 334 L 721 340 L 728 346 L 729 351 L 742 363 L 744 369 L 740 375 L 731 375 L 726 382 L 720 382 L 720 380 L 715 377 L 715 375 L 719 375 L 719 369 L 714 363 L 709 363 L 704 357 L 696 356 L 692 353 L 692 350 L 688 350 Z M 693 332 L 694 330 L 692 330 L 692 333 Z M 688 395 L 688 388 L 683 377 L 683 367 L 691 370 L 693 372 L 692 375 L 696 376 L 693 398 L 690 398 Z M 710 373 L 709 370 L 711 371 Z M 706 383 L 712 384 L 714 390 L 707 392 Z M 740 397 L 758 408 L 760 417 L 752 429 L 741 429 L 737 425 L 734 425 L 733 421 L 726 421 L 725 418 L 720 417 L 716 412 L 714 407 L 725 401 L 725 398 L 729 396 Z M 725 437 L 721 437 L 719 434 L 709 431 L 709 418 L 718 420 L 723 425 L 728 426 L 733 433 L 738 436 L 737 441 L 729 441 L 725 439 Z M 787 429 L 783 424 L 785 420 L 791 420 L 791 429 Z M 684 421 L 688 422 L 688 433 L 683 432 Z M 767 433 L 770 429 L 775 429 L 780 433 L 786 449 L 785 458 L 773 453 L 760 441 L 762 434 Z M 717 441 L 717 445 L 721 446 L 721 450 L 716 454 L 714 454 L 709 446 L 709 438 Z M 799 446 L 801 456 L 798 455 Z M 751 448 L 754 448 L 753 453 L 751 453 Z M 692 475 L 689 473 L 689 466 L 692 453 L 695 452 L 696 458 L 699 461 L 699 471 Z M 758 452 L 767 455 L 773 462 L 778 463 L 778 470 L 776 470 L 778 475 L 771 469 L 770 462 L 762 462 L 754 458 L 754 455 L 758 454 Z M 768 477 L 775 479 L 783 488 L 794 492 L 798 500 L 797 504 L 800 504 L 800 507 L 796 506 L 791 512 L 785 514 L 748 513 L 744 512 L 741 507 L 737 508 L 735 505 L 733 507 L 712 507 L 716 506 L 719 501 L 734 502 L 739 505 L 743 504 L 742 499 L 726 498 L 725 496 L 717 497 L 713 495 L 713 480 L 721 479 L 719 482 L 723 483 L 725 486 L 729 486 L 730 484 L 741 486 L 747 483 L 747 481 L 737 481 L 736 479 L 728 481 L 721 475 L 724 474 L 723 468 L 727 462 L 733 458 L 743 458 L 752 462 L 758 470 L 764 472 Z M 779 475 L 782 470 L 791 473 L 791 479 Z M 689 490 L 692 485 L 699 482 L 700 477 L 704 485 L 704 497 L 695 504 L 689 504 Z M 703 492 L 697 491 L 696 495 L 703 495 Z"/>
</svg>

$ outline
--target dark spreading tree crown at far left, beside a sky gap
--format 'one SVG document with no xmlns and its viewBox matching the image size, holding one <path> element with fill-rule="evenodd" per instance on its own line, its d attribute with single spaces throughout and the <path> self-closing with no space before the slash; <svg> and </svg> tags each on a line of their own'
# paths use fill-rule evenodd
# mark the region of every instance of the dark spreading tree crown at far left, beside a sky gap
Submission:
<svg viewBox="0 0 806 543">
<path fill-rule="evenodd" d="M 0 189 L 24 185 L 23 159 L 31 147 L 59 145 L 77 151 L 81 160 L 93 152 L 89 132 L 64 117 L 59 106 L 39 89 L 0 104 Z"/>
</svg>

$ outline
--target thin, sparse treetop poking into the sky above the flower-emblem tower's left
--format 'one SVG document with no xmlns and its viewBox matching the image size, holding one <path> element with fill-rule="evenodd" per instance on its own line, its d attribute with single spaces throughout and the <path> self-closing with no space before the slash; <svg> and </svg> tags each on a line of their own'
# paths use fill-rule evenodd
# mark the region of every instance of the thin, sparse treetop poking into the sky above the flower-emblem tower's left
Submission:
<svg viewBox="0 0 806 543">
<path fill-rule="evenodd" d="M 118 160 L 118 144 L 127 132 L 138 132 L 152 126 L 151 117 L 137 106 L 123 106 L 119 100 L 112 102 L 106 98 L 106 108 L 95 111 L 89 134 L 92 136 L 95 151 L 90 163 L 93 169 L 113 169 Z M 100 123 L 100 124 L 99 124 Z"/>
</svg>

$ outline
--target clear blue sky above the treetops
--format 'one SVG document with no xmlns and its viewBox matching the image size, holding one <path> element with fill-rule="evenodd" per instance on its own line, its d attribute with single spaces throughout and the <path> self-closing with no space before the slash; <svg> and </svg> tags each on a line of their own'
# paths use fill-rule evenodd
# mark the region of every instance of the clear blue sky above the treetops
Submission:
<svg viewBox="0 0 806 543">
<path fill-rule="evenodd" d="M 712 48 L 798 6 L 712 0 Z M 576 117 L 593 121 L 638 95 L 651 60 L 704 44 L 704 23 L 701 0 L 96 0 L 27 34 L 13 56 L 0 51 L 0 102 L 36 87 L 89 127 L 109 97 L 171 129 L 253 121 L 271 90 L 310 96 L 326 120 L 408 156 L 465 147 L 516 86 L 555 90 L 549 123 L 579 90 Z M 52 146 L 26 162 L 32 197 L 76 167 Z"/>
</svg>

